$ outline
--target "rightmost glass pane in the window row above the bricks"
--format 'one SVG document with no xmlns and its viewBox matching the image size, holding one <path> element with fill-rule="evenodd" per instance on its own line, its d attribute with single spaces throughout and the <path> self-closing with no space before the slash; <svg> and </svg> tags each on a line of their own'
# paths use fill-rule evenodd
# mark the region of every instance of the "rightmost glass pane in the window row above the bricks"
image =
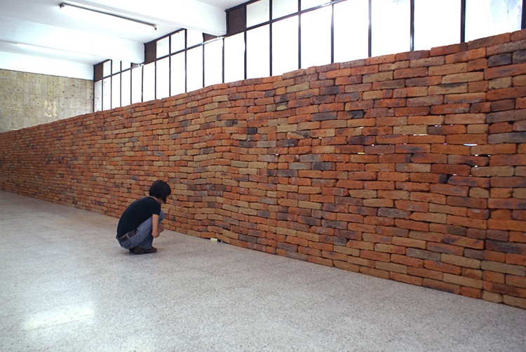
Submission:
<svg viewBox="0 0 526 352">
<path fill-rule="evenodd" d="M 520 29 L 522 0 L 466 0 L 466 41 Z"/>
</svg>

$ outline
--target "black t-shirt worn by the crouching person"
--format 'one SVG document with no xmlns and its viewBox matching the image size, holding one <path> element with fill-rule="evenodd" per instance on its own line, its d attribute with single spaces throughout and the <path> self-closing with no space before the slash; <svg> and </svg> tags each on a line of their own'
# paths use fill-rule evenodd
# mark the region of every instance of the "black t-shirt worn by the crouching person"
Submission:
<svg viewBox="0 0 526 352">
<path fill-rule="evenodd" d="M 154 198 L 144 197 L 137 199 L 124 210 L 117 224 L 117 237 L 137 229 L 151 215 L 161 215 L 161 204 Z"/>
</svg>

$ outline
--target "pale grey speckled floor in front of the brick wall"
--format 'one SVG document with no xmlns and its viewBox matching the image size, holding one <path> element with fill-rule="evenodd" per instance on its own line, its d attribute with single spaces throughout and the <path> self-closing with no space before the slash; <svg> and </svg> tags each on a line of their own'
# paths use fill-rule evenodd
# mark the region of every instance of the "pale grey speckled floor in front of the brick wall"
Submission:
<svg viewBox="0 0 526 352">
<path fill-rule="evenodd" d="M 526 311 L 0 191 L 0 351 L 526 351 Z"/>
</svg>

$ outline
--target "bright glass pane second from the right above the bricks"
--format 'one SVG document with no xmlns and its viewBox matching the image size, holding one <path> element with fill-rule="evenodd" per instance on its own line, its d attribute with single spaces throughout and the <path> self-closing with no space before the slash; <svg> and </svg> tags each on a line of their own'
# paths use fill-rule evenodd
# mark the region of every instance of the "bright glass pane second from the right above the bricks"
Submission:
<svg viewBox="0 0 526 352">
<path fill-rule="evenodd" d="M 460 0 L 414 1 L 414 50 L 459 42 Z"/>
</svg>

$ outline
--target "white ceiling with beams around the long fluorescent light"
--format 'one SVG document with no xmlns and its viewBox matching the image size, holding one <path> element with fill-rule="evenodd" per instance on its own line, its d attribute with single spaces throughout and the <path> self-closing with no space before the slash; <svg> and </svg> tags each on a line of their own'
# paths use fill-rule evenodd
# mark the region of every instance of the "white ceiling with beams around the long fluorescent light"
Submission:
<svg viewBox="0 0 526 352">
<path fill-rule="evenodd" d="M 0 69 L 93 79 L 106 59 L 142 62 L 144 43 L 180 28 L 226 32 L 225 10 L 247 0 L 0 0 Z M 156 25 L 144 33 L 75 18 L 62 2 Z M 21 46 L 25 44 L 28 46 Z"/>
</svg>

